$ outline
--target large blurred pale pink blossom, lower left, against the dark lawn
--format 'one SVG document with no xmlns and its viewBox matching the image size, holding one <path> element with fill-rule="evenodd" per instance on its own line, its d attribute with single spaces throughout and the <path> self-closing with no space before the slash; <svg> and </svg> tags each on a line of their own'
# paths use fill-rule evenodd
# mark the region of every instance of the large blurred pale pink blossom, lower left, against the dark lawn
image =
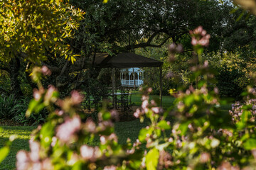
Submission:
<svg viewBox="0 0 256 170">
<path fill-rule="evenodd" d="M 81 120 L 80 117 L 68 118 L 65 123 L 58 126 L 56 136 L 63 142 L 68 142 L 74 133 L 80 130 Z"/>
</svg>

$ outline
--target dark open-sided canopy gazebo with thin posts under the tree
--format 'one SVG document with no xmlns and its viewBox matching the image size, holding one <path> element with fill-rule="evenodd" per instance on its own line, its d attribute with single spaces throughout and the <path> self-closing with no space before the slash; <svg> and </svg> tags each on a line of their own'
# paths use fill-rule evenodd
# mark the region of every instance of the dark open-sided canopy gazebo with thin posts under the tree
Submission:
<svg viewBox="0 0 256 170">
<path fill-rule="evenodd" d="M 114 91 L 116 89 L 116 68 L 132 68 L 132 67 L 159 67 L 159 77 L 160 77 L 160 102 L 162 106 L 162 65 L 163 62 L 154 60 L 142 55 L 136 55 L 132 52 L 119 53 L 118 55 L 108 55 L 107 53 L 97 53 L 93 59 L 92 64 L 95 67 L 101 68 L 112 68 L 112 96 L 114 96 Z M 114 98 L 114 97 L 113 97 Z M 114 101 L 114 100 L 113 100 Z"/>
</svg>

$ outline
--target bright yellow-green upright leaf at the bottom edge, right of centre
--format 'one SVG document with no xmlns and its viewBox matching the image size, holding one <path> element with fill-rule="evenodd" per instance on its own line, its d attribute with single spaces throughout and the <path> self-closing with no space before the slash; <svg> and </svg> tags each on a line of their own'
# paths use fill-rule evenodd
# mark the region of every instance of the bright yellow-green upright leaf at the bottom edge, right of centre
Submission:
<svg viewBox="0 0 256 170">
<path fill-rule="evenodd" d="M 147 170 L 156 170 L 159 159 L 159 150 L 153 148 L 146 154 L 146 169 Z"/>
</svg>

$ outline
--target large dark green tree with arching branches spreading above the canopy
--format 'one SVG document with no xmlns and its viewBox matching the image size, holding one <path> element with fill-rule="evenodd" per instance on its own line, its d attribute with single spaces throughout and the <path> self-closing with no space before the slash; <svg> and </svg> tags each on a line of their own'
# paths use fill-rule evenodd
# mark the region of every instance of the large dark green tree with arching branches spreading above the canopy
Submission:
<svg viewBox="0 0 256 170">
<path fill-rule="evenodd" d="M 80 0 L 71 4 L 86 12 L 80 22 L 75 39 L 70 40 L 73 52 L 80 54 L 75 65 L 65 64 L 58 60 L 46 63 L 54 70 L 56 86 L 68 89 L 83 83 L 84 72 L 71 74 L 87 69 L 95 79 L 100 68 L 93 68 L 96 52 L 108 52 L 110 55 L 119 52 L 134 51 L 145 47 L 162 47 L 167 41 L 184 42 L 185 50 L 191 50 L 187 40 L 188 30 L 202 25 L 212 35 L 209 50 L 218 50 L 222 42 L 222 33 L 228 19 L 231 6 L 218 4 L 218 1 L 102 1 Z M 207 13 L 205 11 L 208 11 Z M 213 17 L 214 16 L 214 17 Z M 53 64 L 55 62 L 55 64 Z M 88 69 L 90 68 L 90 69 Z M 60 74 L 63 73 L 63 74 Z M 57 81 L 61 79 L 63 82 Z M 61 78 L 60 78 L 61 77 Z M 77 83 L 78 82 L 78 83 Z"/>
</svg>

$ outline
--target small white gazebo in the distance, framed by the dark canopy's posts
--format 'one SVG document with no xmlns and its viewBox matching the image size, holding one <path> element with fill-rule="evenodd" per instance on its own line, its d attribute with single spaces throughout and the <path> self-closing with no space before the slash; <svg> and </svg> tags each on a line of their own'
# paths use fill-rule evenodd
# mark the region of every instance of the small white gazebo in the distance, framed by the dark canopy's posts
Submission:
<svg viewBox="0 0 256 170">
<path fill-rule="evenodd" d="M 143 84 L 144 70 L 138 67 L 120 70 L 121 86 L 138 87 Z"/>
</svg>

